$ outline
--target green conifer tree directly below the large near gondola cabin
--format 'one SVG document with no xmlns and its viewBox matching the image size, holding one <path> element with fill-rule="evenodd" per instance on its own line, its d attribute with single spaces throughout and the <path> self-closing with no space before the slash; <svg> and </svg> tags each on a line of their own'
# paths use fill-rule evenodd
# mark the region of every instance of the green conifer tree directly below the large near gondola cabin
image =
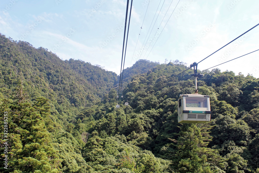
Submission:
<svg viewBox="0 0 259 173">
<path fill-rule="evenodd" d="M 225 172 L 224 160 L 217 150 L 207 148 L 207 137 L 196 124 L 183 124 L 177 141 L 178 151 L 173 162 L 177 173 Z M 211 137 L 210 137 L 211 138 Z"/>
</svg>

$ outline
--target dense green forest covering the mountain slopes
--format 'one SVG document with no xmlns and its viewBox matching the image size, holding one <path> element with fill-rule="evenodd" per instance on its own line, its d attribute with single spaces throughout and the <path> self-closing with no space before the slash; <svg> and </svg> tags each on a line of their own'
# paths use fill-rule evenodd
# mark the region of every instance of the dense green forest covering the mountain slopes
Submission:
<svg viewBox="0 0 259 173">
<path fill-rule="evenodd" d="M 139 60 L 125 69 L 116 109 L 114 72 L 63 61 L 4 35 L 0 56 L 0 172 L 259 173 L 259 79 L 253 76 L 203 72 L 198 90 L 210 96 L 211 121 L 180 124 L 179 94 L 195 87 L 193 78 L 184 80 L 191 69 L 170 79 L 188 68 L 177 60 Z"/>
</svg>

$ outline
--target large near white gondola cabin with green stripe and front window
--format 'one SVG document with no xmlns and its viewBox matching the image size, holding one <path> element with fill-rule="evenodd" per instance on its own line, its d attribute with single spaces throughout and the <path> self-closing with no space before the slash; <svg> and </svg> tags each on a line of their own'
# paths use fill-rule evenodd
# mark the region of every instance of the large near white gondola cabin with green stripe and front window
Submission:
<svg viewBox="0 0 259 173">
<path fill-rule="evenodd" d="M 210 96 L 180 94 L 178 99 L 178 123 L 205 123 L 210 121 Z"/>
</svg>

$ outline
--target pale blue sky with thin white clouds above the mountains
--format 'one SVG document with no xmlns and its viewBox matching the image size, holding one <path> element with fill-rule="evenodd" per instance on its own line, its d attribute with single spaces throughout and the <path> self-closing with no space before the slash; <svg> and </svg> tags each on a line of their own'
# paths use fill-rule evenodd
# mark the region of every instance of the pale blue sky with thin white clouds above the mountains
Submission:
<svg viewBox="0 0 259 173">
<path fill-rule="evenodd" d="M 119 74 L 126 2 L 2 0 L 0 33 L 17 41 L 27 41 L 36 48 L 45 47 L 63 60 L 81 59 Z M 133 0 L 125 68 L 139 58 L 160 63 L 165 59 L 168 62 L 178 59 L 187 64 L 198 62 L 259 23 L 259 1 L 256 0 L 180 0 L 172 14 L 177 3 L 178 0 Z M 155 25 L 154 21 L 151 24 L 153 18 L 154 21 L 157 18 Z M 153 30 L 152 27 L 149 30 L 150 25 L 154 25 Z M 149 34 L 146 44 L 144 40 Z M 198 69 L 204 70 L 257 50 L 258 40 L 259 26 L 202 61 Z M 143 44 L 146 44 L 146 49 L 138 57 Z M 218 68 L 234 71 L 236 75 L 238 72 L 245 76 L 250 73 L 259 78 L 258 56 L 259 51 Z"/>
</svg>

